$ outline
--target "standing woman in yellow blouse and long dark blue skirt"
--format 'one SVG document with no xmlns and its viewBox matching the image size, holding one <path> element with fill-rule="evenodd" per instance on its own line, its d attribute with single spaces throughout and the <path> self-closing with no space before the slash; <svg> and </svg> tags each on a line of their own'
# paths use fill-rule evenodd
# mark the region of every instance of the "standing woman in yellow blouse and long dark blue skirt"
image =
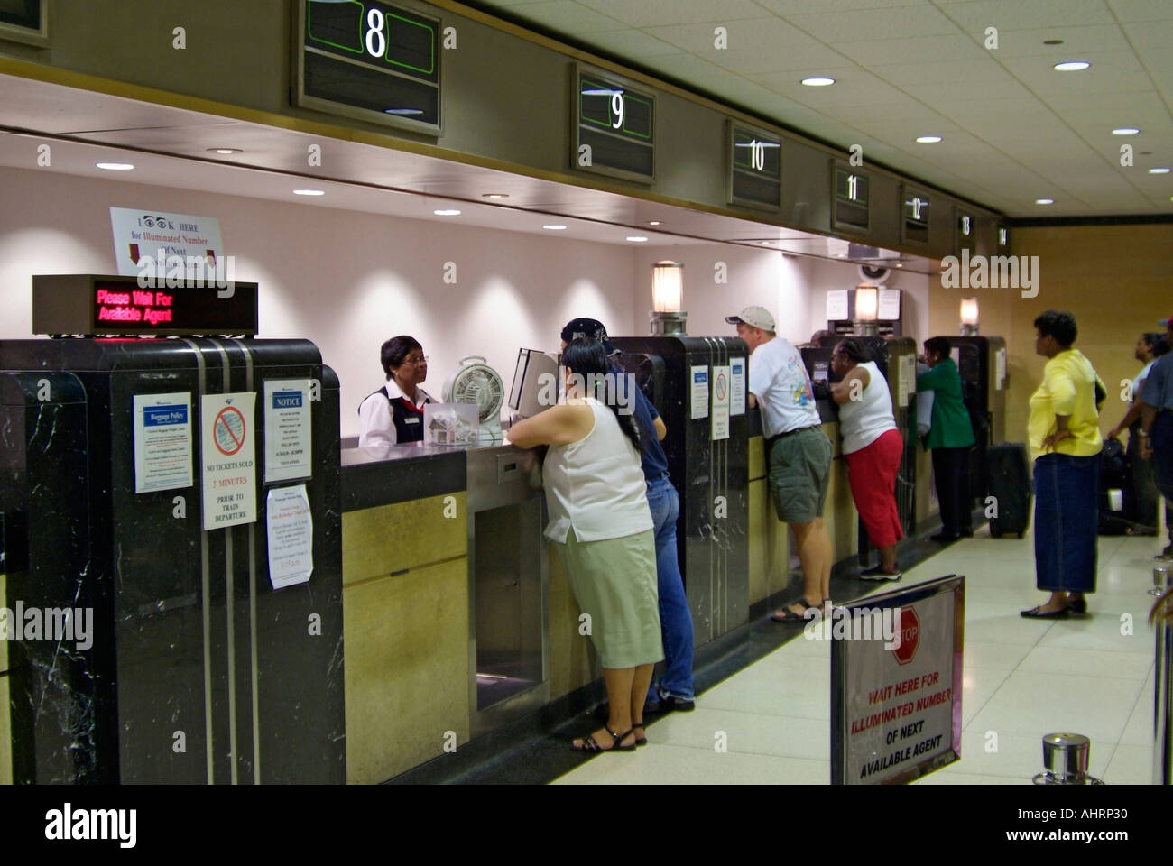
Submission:
<svg viewBox="0 0 1173 866">
<path fill-rule="evenodd" d="M 1026 434 L 1035 460 L 1035 574 L 1051 597 L 1022 611 L 1060 620 L 1086 614 L 1096 591 L 1099 473 L 1103 438 L 1091 361 L 1071 347 L 1076 318 L 1047 310 L 1035 319 L 1035 352 L 1047 358 L 1030 398 Z"/>
</svg>

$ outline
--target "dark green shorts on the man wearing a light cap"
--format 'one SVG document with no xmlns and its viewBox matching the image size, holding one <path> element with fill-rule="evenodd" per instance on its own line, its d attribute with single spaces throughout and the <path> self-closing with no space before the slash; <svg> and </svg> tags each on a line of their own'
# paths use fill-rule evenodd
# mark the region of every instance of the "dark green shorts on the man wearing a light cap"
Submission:
<svg viewBox="0 0 1173 866">
<path fill-rule="evenodd" d="M 822 516 L 830 482 L 832 446 L 818 426 L 786 433 L 769 447 L 769 494 L 778 519 L 809 523 Z"/>
</svg>

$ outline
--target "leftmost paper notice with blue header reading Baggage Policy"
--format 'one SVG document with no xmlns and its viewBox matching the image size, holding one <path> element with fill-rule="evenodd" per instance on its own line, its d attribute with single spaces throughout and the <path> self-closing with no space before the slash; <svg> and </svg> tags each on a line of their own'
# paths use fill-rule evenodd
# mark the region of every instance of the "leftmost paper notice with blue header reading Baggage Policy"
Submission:
<svg viewBox="0 0 1173 866">
<path fill-rule="evenodd" d="M 135 394 L 135 493 L 191 487 L 191 392 Z"/>
</svg>

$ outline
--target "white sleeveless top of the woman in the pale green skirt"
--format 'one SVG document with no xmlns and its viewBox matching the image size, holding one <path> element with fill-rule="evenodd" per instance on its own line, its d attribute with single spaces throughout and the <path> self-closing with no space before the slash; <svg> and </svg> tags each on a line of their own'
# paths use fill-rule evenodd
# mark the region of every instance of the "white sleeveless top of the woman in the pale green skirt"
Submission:
<svg viewBox="0 0 1173 866">
<path fill-rule="evenodd" d="M 550 522 L 545 537 L 565 543 L 622 539 L 653 528 L 639 453 L 610 408 L 592 397 L 590 433 L 570 445 L 551 445 L 542 466 Z"/>
</svg>

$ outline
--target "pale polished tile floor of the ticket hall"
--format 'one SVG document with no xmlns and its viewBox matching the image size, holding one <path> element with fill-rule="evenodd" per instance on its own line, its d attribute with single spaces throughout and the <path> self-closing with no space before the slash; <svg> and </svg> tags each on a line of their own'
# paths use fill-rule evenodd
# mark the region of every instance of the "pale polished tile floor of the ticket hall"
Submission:
<svg viewBox="0 0 1173 866">
<path fill-rule="evenodd" d="M 1046 598 L 1035 589 L 1032 544 L 1029 535 L 990 539 L 981 529 L 899 584 L 967 577 L 962 759 L 917 784 L 1029 784 L 1043 769 L 1042 737 L 1055 731 L 1091 738 L 1093 776 L 1150 784 L 1154 640 L 1146 590 L 1164 540 L 1100 537 L 1092 616 L 1064 621 L 1018 615 Z M 554 784 L 828 784 L 829 647 L 793 640 L 705 691 L 694 711 L 650 722 L 649 744 L 637 752 L 596 756 Z"/>
</svg>

